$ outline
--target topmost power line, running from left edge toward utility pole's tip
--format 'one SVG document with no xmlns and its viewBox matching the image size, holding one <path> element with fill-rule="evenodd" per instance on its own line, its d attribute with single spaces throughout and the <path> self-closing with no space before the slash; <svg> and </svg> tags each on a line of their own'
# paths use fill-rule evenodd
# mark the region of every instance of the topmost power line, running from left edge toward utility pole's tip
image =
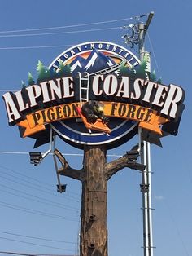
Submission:
<svg viewBox="0 0 192 256">
<path fill-rule="evenodd" d="M 148 14 L 146 14 L 146 15 L 148 15 Z M 124 20 L 133 20 L 133 19 L 142 18 L 144 16 L 145 15 L 139 15 L 139 16 L 133 16 L 133 17 L 124 18 L 124 19 L 106 20 L 106 21 L 98 21 L 98 22 L 83 23 L 83 24 L 72 24 L 72 25 L 58 26 L 58 27 L 47 27 L 47 28 L 37 28 L 37 29 L 5 30 L 5 31 L 0 31 L 0 33 L 18 33 L 18 32 L 50 30 L 50 29 L 68 29 L 68 28 L 84 27 L 84 26 L 95 25 L 95 24 L 108 24 L 108 23 L 114 23 L 114 22 L 119 22 L 119 21 L 124 21 Z"/>
</svg>

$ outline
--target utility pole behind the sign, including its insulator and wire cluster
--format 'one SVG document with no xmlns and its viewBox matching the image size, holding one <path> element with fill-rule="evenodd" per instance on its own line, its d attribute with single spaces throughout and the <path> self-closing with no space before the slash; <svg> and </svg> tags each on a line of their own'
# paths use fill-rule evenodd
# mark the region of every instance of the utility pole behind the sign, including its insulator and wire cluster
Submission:
<svg viewBox="0 0 192 256">
<path fill-rule="evenodd" d="M 124 42 L 129 44 L 131 48 L 138 45 L 139 58 L 141 62 L 144 58 L 147 58 L 147 74 L 151 73 L 151 60 L 150 53 L 145 51 L 145 37 L 146 31 L 151 24 L 154 12 L 147 14 L 146 24 L 139 22 L 137 24 L 129 24 L 124 26 L 127 29 L 126 33 L 122 38 Z M 141 15 L 136 18 L 142 18 L 146 15 Z M 146 169 L 142 172 L 142 218 L 143 218 L 143 253 L 144 256 L 153 256 L 153 238 L 152 238 L 152 214 L 151 214 L 151 149 L 150 143 L 142 141 L 142 128 L 138 128 L 139 144 L 141 148 L 141 161 L 142 165 L 146 166 Z M 143 146 L 141 146 L 143 145 Z"/>
</svg>

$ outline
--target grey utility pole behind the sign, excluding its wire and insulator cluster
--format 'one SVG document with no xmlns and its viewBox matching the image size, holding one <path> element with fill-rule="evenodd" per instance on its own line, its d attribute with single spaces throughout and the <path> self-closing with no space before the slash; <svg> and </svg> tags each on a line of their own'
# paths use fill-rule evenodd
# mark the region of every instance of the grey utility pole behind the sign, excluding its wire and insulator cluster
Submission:
<svg viewBox="0 0 192 256">
<path fill-rule="evenodd" d="M 154 12 L 148 15 L 146 24 L 138 24 L 138 47 L 140 60 L 144 60 L 145 55 L 148 56 L 148 72 L 151 73 L 150 54 L 145 51 L 146 31 L 151 24 Z M 140 129 L 140 128 L 139 128 Z M 142 130 L 139 131 L 142 135 Z M 142 172 L 142 218 L 143 218 L 143 253 L 144 256 L 153 256 L 153 236 L 152 236 L 152 214 L 151 214 L 151 148 L 150 143 L 143 141 L 141 149 L 142 164 L 146 165 L 146 169 Z"/>
</svg>

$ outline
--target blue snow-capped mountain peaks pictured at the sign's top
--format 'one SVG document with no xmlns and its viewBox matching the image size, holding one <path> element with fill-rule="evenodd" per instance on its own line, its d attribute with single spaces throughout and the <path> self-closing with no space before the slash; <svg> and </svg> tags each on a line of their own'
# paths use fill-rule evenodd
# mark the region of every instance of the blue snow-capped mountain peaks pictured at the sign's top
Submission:
<svg viewBox="0 0 192 256">
<path fill-rule="evenodd" d="M 97 49 L 94 49 L 90 52 L 87 59 L 78 56 L 75 60 L 72 60 L 70 66 L 72 74 L 75 75 L 77 72 L 88 72 L 89 74 L 95 73 L 104 68 L 109 68 L 115 64 L 116 62 L 110 57 L 104 55 Z"/>
</svg>

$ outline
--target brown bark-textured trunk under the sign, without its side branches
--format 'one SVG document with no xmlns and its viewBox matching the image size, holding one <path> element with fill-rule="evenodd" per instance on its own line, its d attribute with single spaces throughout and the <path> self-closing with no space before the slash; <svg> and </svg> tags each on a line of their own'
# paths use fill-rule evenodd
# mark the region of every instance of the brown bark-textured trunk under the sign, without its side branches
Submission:
<svg viewBox="0 0 192 256">
<path fill-rule="evenodd" d="M 85 146 L 81 201 L 81 256 L 107 256 L 106 148 Z"/>
</svg>

